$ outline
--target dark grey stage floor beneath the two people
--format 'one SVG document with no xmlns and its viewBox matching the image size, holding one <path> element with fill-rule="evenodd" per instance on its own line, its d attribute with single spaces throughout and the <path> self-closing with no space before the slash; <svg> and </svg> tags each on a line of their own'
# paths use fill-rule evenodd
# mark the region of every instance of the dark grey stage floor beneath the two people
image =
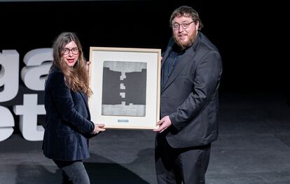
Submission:
<svg viewBox="0 0 290 184">
<path fill-rule="evenodd" d="M 91 183 L 156 183 L 151 130 L 106 130 L 90 140 Z M 61 183 L 41 141 L 0 142 L 0 184 Z M 282 94 L 221 94 L 219 139 L 207 184 L 290 183 L 290 106 Z"/>
</svg>

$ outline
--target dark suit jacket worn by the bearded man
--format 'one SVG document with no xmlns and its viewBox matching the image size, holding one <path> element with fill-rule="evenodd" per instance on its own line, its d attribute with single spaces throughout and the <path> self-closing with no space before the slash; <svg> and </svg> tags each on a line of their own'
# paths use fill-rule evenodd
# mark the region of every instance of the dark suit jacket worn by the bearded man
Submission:
<svg viewBox="0 0 290 184">
<path fill-rule="evenodd" d="M 173 44 L 172 39 L 163 55 L 163 64 Z M 165 136 L 172 147 L 195 147 L 216 140 L 221 72 L 218 49 L 199 32 L 161 89 L 160 115 L 169 115 L 172 126 L 160 136 Z"/>
</svg>

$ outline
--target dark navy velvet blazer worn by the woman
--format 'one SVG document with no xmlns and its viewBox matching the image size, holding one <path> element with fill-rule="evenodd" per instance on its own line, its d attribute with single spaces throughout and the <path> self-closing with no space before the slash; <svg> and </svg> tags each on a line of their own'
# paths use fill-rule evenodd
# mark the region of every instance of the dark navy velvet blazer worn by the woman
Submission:
<svg viewBox="0 0 290 184">
<path fill-rule="evenodd" d="M 94 129 L 87 97 L 69 90 L 64 74 L 53 68 L 45 87 L 46 124 L 43 153 L 50 159 L 79 160 L 90 157 L 88 137 Z"/>
</svg>

